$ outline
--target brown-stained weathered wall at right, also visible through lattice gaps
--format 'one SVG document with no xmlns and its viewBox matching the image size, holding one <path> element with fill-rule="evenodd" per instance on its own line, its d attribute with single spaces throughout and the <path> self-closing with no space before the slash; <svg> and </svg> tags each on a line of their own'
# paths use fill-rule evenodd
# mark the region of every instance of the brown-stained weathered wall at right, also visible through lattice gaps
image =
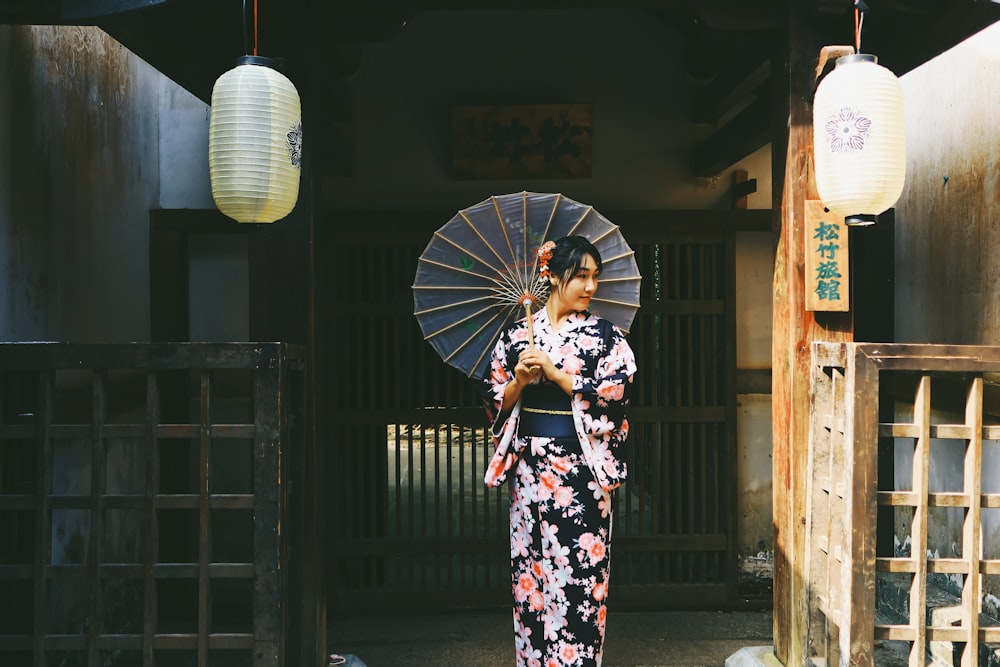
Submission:
<svg viewBox="0 0 1000 667">
<path fill-rule="evenodd" d="M 1000 23 L 901 78 L 906 106 L 906 186 L 896 205 L 896 337 L 899 342 L 1000 345 Z M 911 409 L 901 406 L 900 419 Z M 935 415 L 954 422 L 955 415 Z M 961 421 L 961 416 L 958 416 Z M 957 443 L 960 445 L 960 443 Z M 964 448 L 932 442 L 931 490 L 962 488 Z M 896 485 L 911 488 L 913 446 L 896 446 Z M 985 443 L 983 491 L 1000 488 L 996 442 Z M 897 521 L 905 544 L 908 521 Z M 937 509 L 929 551 L 956 555 L 962 512 Z M 1000 521 L 983 513 L 984 553 L 1000 554 Z M 994 578 L 988 578 L 994 579 Z M 996 594 L 1000 586 L 988 581 Z"/>
</svg>

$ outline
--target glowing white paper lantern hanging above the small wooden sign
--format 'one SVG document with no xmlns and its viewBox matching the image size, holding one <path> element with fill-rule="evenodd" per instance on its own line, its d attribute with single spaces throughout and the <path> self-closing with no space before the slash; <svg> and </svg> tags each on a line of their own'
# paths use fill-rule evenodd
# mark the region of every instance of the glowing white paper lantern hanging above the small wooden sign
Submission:
<svg viewBox="0 0 1000 667">
<path fill-rule="evenodd" d="M 875 222 L 903 191 L 903 87 L 873 55 L 837 59 L 813 102 L 816 186 L 847 224 Z"/>
</svg>

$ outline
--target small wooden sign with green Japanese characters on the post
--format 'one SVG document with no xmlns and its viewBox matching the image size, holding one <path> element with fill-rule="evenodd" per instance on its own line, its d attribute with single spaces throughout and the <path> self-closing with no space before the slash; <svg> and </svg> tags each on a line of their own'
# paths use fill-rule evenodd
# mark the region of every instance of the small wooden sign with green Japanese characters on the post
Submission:
<svg viewBox="0 0 1000 667">
<path fill-rule="evenodd" d="M 806 310 L 850 310 L 847 224 L 823 202 L 806 202 Z"/>
</svg>

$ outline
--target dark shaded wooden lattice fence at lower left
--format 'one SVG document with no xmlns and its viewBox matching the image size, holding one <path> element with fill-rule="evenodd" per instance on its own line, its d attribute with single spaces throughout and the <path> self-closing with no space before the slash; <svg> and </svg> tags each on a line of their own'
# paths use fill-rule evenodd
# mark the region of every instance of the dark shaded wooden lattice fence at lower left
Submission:
<svg viewBox="0 0 1000 667">
<path fill-rule="evenodd" d="M 0 345 L 0 664 L 319 664 L 303 363 Z"/>
</svg>

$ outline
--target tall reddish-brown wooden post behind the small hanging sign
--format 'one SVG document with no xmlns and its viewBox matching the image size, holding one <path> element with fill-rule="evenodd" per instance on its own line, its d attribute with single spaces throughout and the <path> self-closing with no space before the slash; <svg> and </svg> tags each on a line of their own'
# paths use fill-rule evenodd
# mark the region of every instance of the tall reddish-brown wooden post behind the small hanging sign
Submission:
<svg viewBox="0 0 1000 667">
<path fill-rule="evenodd" d="M 812 99 L 816 63 L 824 42 L 806 15 L 806 5 L 792 2 L 788 7 L 787 51 L 772 61 L 776 82 L 772 182 L 778 243 L 771 381 L 774 648 L 783 664 L 802 665 L 808 657 L 809 591 L 803 564 L 810 344 L 818 340 L 849 342 L 853 323 L 850 311 L 814 313 L 805 307 L 805 202 L 818 199 L 812 159 Z"/>
</svg>

